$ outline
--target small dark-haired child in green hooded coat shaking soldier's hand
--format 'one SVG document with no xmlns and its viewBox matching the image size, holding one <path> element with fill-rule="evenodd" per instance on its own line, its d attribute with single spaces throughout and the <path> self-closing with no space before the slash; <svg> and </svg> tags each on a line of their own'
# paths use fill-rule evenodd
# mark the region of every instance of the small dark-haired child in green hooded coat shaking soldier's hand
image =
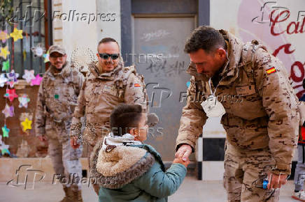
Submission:
<svg viewBox="0 0 305 202">
<path fill-rule="evenodd" d="M 91 157 L 91 172 L 99 176 L 99 201 L 167 201 L 181 185 L 190 161 L 175 159 L 165 171 L 161 155 L 142 143 L 148 125 L 141 105 L 118 105 L 110 122 L 112 132 L 97 143 Z"/>
</svg>

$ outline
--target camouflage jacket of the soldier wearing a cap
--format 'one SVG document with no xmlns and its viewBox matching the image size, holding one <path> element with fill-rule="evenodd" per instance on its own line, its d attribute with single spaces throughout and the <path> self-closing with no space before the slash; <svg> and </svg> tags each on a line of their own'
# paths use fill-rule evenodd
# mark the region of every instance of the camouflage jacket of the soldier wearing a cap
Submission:
<svg viewBox="0 0 305 202">
<path fill-rule="evenodd" d="M 56 136 L 56 132 L 50 130 L 63 126 L 64 131 L 60 135 L 69 137 L 66 130 L 69 130 L 77 106 L 83 75 L 69 63 L 64 65 L 61 72 L 55 72 L 54 68 L 50 66 L 39 86 L 35 114 L 36 136 Z"/>
</svg>

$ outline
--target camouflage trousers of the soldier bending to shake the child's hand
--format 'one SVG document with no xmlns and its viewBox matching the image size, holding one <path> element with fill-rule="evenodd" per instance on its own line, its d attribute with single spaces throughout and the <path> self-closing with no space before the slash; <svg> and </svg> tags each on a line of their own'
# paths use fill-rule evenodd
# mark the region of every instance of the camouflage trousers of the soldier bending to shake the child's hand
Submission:
<svg viewBox="0 0 305 202">
<path fill-rule="evenodd" d="M 223 177 L 227 201 L 278 201 L 280 189 L 262 188 L 274 165 L 269 148 L 240 150 L 227 143 Z"/>
</svg>

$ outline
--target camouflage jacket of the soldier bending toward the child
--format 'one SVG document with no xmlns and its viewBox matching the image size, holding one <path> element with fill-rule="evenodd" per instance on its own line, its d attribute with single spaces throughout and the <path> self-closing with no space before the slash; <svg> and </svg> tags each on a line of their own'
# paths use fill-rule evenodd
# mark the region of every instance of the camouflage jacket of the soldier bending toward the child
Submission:
<svg viewBox="0 0 305 202">
<path fill-rule="evenodd" d="M 218 86 L 211 88 L 225 107 L 221 123 L 227 141 L 241 150 L 267 148 L 276 160 L 274 173 L 290 173 L 292 155 L 297 145 L 299 111 L 288 74 L 281 61 L 253 43 L 246 45 L 226 31 L 229 64 L 220 73 Z M 187 104 L 183 108 L 176 148 L 187 143 L 194 149 L 206 113 L 201 102 L 211 95 L 208 78 L 190 65 L 192 75 L 187 89 Z"/>
</svg>

